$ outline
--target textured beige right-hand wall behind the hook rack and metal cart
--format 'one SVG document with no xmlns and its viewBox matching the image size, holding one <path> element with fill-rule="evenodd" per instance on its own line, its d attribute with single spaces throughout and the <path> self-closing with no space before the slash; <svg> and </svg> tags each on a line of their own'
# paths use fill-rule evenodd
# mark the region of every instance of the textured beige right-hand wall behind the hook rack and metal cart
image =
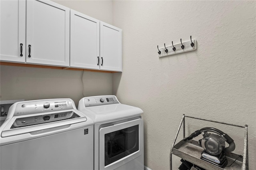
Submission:
<svg viewBox="0 0 256 170">
<path fill-rule="evenodd" d="M 256 169 L 255 13 L 256 1 L 113 2 L 113 24 L 123 29 L 123 72 L 114 74 L 113 93 L 144 111 L 146 166 L 169 169 L 170 148 L 186 114 L 247 124 L 249 169 Z M 190 35 L 196 51 L 158 58 L 157 45 Z M 207 126 L 230 134 L 242 154 L 243 129 L 190 121 L 188 133 Z M 181 162 L 175 159 L 177 169 Z"/>
</svg>

